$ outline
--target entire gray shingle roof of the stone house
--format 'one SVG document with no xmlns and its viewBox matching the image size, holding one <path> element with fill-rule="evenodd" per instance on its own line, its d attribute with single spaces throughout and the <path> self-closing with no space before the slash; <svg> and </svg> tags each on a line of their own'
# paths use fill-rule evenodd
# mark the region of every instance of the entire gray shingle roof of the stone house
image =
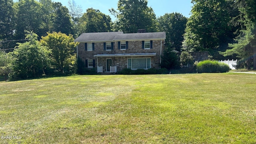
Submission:
<svg viewBox="0 0 256 144">
<path fill-rule="evenodd" d="M 165 39 L 165 32 L 146 32 L 124 34 L 123 32 L 92 32 L 83 33 L 75 42 L 87 41 L 113 41 L 113 40 L 143 40 L 143 39 Z"/>
</svg>

